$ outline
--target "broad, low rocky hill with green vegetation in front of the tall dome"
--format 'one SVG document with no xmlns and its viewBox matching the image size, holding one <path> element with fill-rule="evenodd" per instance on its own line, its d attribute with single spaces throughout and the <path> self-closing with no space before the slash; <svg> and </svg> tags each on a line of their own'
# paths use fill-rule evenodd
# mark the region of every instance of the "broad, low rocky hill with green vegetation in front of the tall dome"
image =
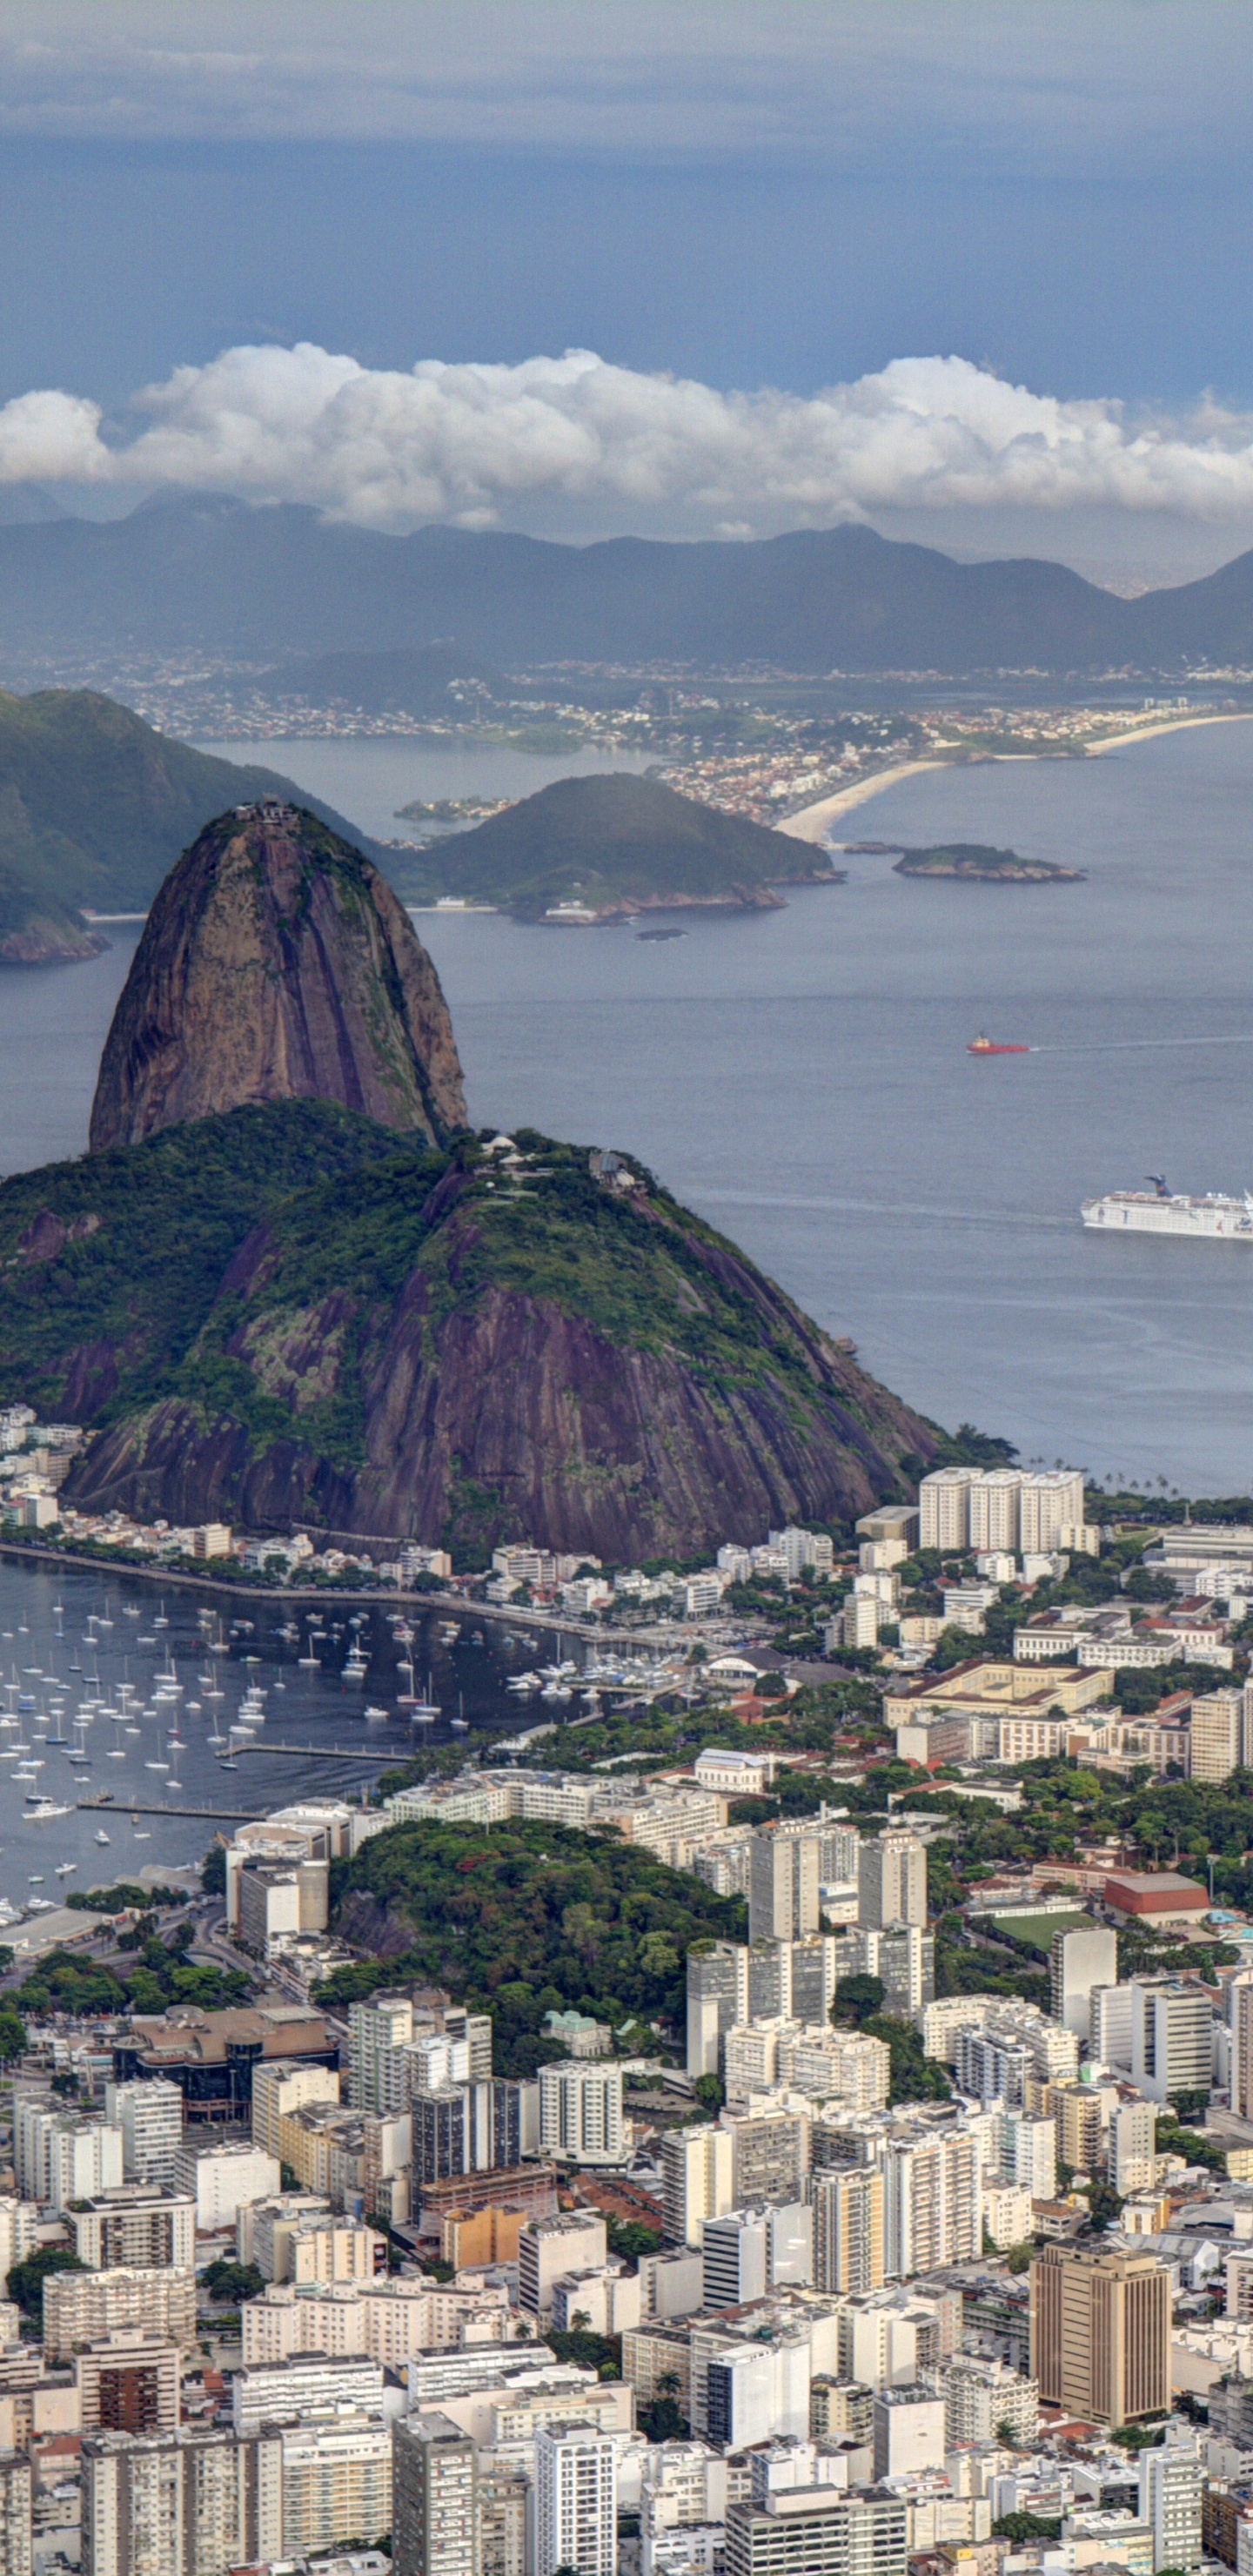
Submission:
<svg viewBox="0 0 1253 2576">
<path fill-rule="evenodd" d="M 286 1100 L 0 1188 L 70 1499 L 608 1561 L 869 1510 L 936 1432 L 645 1172 Z"/>
</svg>

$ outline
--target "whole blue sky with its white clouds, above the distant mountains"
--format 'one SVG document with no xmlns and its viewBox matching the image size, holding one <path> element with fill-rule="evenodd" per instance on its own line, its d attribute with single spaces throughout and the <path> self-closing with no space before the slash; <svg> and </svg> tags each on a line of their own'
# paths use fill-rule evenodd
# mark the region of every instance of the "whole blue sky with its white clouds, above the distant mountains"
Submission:
<svg viewBox="0 0 1253 2576">
<path fill-rule="evenodd" d="M 147 438 L 142 489 L 217 477 L 379 526 L 864 515 L 969 551 L 1219 562 L 1253 541 L 1250 54 L 1238 0 L 0 0 L 0 402 L 101 407 L 93 440 L 21 412 L 8 448 L 0 415 L 0 471 L 116 507 Z M 358 368 L 317 381 L 353 412 L 333 469 L 309 371 L 235 366 L 248 456 L 224 379 L 168 386 L 294 343 Z M 567 348 L 603 361 L 575 394 L 510 374 Z M 884 389 L 936 355 L 964 374 Z M 441 379 L 415 422 L 418 361 L 498 374 Z M 665 376 L 712 399 L 681 417 Z M 864 384 L 833 417 L 714 402 Z M 384 474 L 366 410 L 371 448 L 402 448 Z M 1031 471 L 1057 438 L 1065 471 Z"/>
</svg>

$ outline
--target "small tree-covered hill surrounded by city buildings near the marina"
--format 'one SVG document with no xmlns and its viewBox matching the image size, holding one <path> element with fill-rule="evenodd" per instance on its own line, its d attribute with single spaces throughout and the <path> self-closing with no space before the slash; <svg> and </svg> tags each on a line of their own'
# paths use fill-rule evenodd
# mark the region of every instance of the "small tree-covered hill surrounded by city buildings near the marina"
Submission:
<svg viewBox="0 0 1253 2576">
<path fill-rule="evenodd" d="M 549 2009 L 678 2025 L 688 1945 L 745 1940 L 740 1896 L 559 1824 L 397 1824 L 335 1865 L 333 1922 L 387 1955 L 343 1968 L 322 2002 L 449 1986 L 492 2012 L 498 2074 L 531 2074 Z"/>
</svg>

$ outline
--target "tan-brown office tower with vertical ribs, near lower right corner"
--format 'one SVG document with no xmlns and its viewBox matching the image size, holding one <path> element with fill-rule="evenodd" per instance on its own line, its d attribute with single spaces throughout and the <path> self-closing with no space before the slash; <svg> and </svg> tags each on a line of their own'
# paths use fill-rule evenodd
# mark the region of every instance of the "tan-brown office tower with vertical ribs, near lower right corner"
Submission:
<svg viewBox="0 0 1253 2576">
<path fill-rule="evenodd" d="M 1170 2411 L 1170 2275 L 1155 2254 L 1047 2244 L 1031 2264 L 1042 2406 L 1096 2424 Z"/>
</svg>

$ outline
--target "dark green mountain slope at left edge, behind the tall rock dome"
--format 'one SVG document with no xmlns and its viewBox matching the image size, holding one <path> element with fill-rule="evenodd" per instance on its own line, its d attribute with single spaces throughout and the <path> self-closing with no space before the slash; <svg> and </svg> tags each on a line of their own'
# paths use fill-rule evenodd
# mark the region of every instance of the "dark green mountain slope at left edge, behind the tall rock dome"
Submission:
<svg viewBox="0 0 1253 2576">
<path fill-rule="evenodd" d="M 113 698 L 83 688 L 31 698 L 0 690 L 0 958 L 26 963 L 13 943 L 39 922 L 49 925 L 44 956 L 90 956 L 72 945 L 83 943 L 83 909 L 144 912 L 201 824 L 266 793 L 296 796 L 376 855 L 276 770 L 193 752 Z M 57 927 L 67 945 L 57 948 Z"/>
</svg>

